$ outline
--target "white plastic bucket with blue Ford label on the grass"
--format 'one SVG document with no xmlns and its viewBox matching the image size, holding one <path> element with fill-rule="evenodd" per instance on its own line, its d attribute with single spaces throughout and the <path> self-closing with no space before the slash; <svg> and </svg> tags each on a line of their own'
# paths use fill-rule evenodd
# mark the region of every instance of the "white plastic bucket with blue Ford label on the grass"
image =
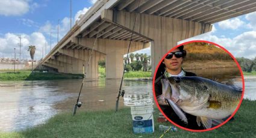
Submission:
<svg viewBox="0 0 256 138">
<path fill-rule="evenodd" d="M 134 133 L 154 132 L 153 111 L 152 104 L 146 106 L 131 106 Z"/>
</svg>

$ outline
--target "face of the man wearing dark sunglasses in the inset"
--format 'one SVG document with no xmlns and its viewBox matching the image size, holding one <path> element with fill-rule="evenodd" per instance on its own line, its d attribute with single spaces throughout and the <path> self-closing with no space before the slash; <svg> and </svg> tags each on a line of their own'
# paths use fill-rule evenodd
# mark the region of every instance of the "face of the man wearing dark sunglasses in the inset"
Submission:
<svg viewBox="0 0 256 138">
<path fill-rule="evenodd" d="M 180 51 L 180 49 L 174 49 L 172 50 L 172 52 L 178 52 Z M 172 56 L 171 59 L 166 59 L 164 58 L 163 63 L 166 65 L 166 70 L 170 70 L 170 71 L 176 71 L 176 70 L 180 70 L 181 68 L 181 63 L 183 61 L 183 58 L 176 58 L 175 55 Z"/>
</svg>

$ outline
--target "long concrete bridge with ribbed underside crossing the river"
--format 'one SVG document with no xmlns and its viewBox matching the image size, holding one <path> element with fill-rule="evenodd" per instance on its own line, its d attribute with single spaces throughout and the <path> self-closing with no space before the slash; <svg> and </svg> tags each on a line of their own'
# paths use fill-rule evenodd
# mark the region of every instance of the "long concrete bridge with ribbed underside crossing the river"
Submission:
<svg viewBox="0 0 256 138">
<path fill-rule="evenodd" d="M 95 43 L 87 78 L 98 77 L 98 61 L 105 59 L 106 78 L 120 79 L 133 33 L 130 52 L 151 46 L 154 73 L 161 57 L 178 41 L 211 31 L 212 23 L 253 11 L 255 0 L 100 0 L 42 64 L 61 73 L 83 73 Z"/>
</svg>

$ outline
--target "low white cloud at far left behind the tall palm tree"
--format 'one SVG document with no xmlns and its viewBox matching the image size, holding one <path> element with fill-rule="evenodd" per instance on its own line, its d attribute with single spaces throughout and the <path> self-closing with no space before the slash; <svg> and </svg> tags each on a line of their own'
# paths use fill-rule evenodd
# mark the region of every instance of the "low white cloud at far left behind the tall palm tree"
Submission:
<svg viewBox="0 0 256 138">
<path fill-rule="evenodd" d="M 30 53 L 27 51 L 28 46 L 36 46 L 35 59 L 42 58 L 42 47 L 45 49 L 45 36 L 40 32 L 33 32 L 30 35 L 20 34 L 22 36 L 21 58 L 29 59 Z M 0 37 L 0 55 L 4 57 L 14 56 L 14 48 L 16 48 L 16 58 L 19 58 L 19 35 L 7 33 Z M 49 52 L 49 46 L 48 50 Z M 44 50 L 45 53 L 45 50 Z"/>
</svg>

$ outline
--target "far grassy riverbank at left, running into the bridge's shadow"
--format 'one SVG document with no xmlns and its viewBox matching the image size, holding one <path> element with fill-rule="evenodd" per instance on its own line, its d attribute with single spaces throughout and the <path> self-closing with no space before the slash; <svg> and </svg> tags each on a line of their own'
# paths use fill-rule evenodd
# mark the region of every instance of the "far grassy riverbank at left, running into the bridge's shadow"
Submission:
<svg viewBox="0 0 256 138">
<path fill-rule="evenodd" d="M 56 80 L 56 79 L 81 79 L 81 74 L 42 73 L 31 71 L 0 73 L 0 81 L 8 80 Z"/>
</svg>

